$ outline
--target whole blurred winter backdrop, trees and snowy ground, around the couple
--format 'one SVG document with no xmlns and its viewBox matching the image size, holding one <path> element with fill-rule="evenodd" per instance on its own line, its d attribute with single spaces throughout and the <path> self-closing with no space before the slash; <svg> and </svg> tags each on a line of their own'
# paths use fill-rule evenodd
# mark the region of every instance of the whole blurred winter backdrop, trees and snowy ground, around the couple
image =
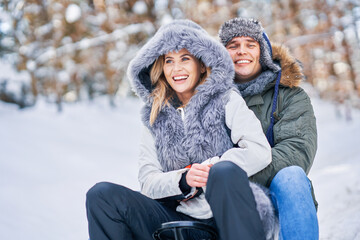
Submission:
<svg viewBox="0 0 360 240">
<path fill-rule="evenodd" d="M 217 38 L 236 16 L 259 19 L 302 62 L 320 239 L 360 240 L 358 0 L 0 0 L 0 239 L 88 239 L 86 191 L 139 188 L 127 64 L 172 19 Z"/>
</svg>

